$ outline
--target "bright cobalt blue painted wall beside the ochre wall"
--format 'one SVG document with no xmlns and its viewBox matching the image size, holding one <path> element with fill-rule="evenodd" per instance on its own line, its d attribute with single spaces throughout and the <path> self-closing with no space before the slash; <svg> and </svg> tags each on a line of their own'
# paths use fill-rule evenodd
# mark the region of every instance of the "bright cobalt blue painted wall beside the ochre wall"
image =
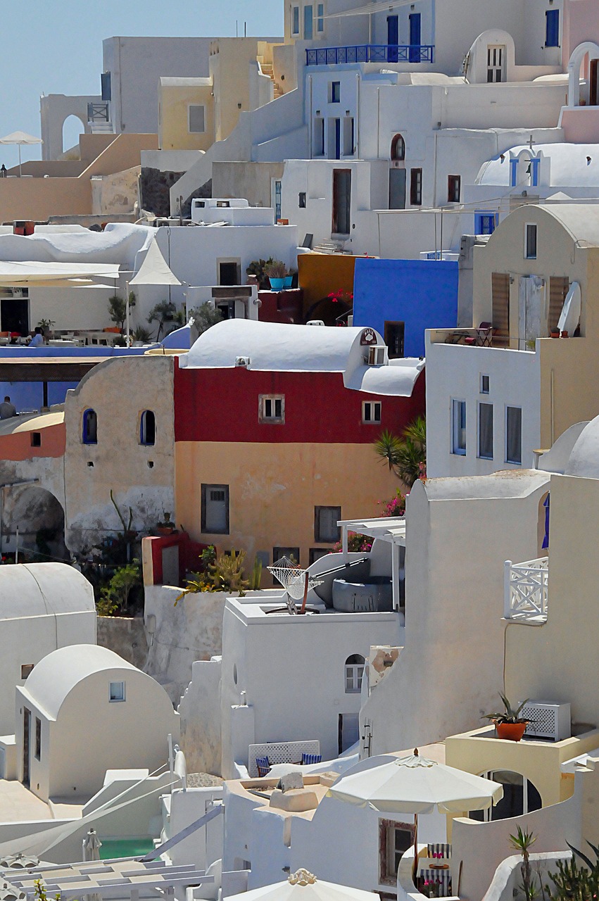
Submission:
<svg viewBox="0 0 599 901">
<path fill-rule="evenodd" d="M 354 325 L 385 335 L 385 322 L 405 323 L 404 355 L 424 356 L 424 330 L 458 324 L 458 263 L 439 259 L 358 257 Z"/>
</svg>

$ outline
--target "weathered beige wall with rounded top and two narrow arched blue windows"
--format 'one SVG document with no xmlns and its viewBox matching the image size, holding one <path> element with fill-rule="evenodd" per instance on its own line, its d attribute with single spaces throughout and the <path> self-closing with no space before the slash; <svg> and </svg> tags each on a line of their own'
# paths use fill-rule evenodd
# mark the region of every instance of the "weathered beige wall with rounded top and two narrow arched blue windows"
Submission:
<svg viewBox="0 0 599 901">
<path fill-rule="evenodd" d="M 86 409 L 97 414 L 97 443 L 84 444 Z M 144 410 L 156 416 L 156 443 L 140 443 Z M 146 531 L 174 512 L 173 358 L 116 357 L 101 363 L 68 392 L 65 404 L 67 546 L 80 551 L 123 525 Z M 91 465 L 90 465 L 91 464 Z M 150 465 L 151 464 L 151 465 Z"/>
</svg>

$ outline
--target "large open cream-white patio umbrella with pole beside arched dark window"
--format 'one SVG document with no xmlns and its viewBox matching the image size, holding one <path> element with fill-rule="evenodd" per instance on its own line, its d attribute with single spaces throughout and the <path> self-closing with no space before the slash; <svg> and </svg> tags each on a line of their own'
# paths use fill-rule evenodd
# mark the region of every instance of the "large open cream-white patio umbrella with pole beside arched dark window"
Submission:
<svg viewBox="0 0 599 901">
<path fill-rule="evenodd" d="M 416 748 L 408 757 L 399 757 L 380 767 L 340 778 L 327 796 L 358 807 L 372 807 L 385 814 L 413 814 L 415 878 L 418 815 L 432 814 L 435 810 L 440 814 L 484 810 L 502 799 L 504 787 L 491 779 L 427 760 Z"/>
</svg>

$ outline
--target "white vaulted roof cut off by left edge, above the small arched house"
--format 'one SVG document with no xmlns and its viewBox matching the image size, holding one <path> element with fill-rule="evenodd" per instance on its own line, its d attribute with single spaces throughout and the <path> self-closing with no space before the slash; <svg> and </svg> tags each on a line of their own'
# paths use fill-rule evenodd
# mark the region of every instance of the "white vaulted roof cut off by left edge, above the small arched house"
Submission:
<svg viewBox="0 0 599 901">
<path fill-rule="evenodd" d="M 94 592 L 66 563 L 0 566 L 0 620 L 95 612 Z"/>
</svg>

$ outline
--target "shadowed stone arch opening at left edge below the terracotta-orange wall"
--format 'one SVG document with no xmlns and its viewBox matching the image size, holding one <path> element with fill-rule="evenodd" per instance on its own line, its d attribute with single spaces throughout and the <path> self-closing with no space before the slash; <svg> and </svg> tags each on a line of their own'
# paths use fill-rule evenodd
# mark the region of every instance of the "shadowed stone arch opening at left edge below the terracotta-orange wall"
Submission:
<svg viewBox="0 0 599 901">
<path fill-rule="evenodd" d="M 65 545 L 65 512 L 59 499 L 47 488 L 25 483 L 4 489 L 0 530 L 2 549 L 13 552 L 16 530 L 19 549 L 35 563 L 69 560 Z"/>
</svg>

